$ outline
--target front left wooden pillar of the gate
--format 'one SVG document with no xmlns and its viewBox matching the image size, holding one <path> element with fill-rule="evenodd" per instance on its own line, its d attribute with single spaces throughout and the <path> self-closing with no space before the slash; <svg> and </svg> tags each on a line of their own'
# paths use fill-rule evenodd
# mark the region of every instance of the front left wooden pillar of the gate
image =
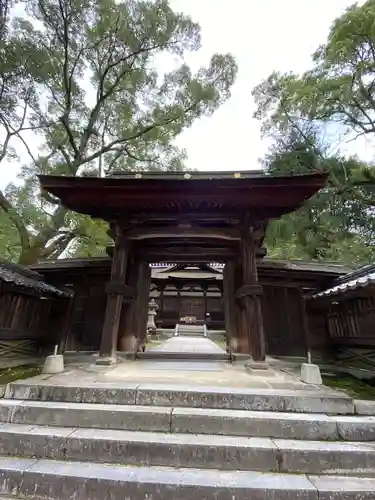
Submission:
<svg viewBox="0 0 375 500">
<path fill-rule="evenodd" d="M 97 360 L 98 364 L 111 364 L 115 361 L 121 308 L 125 289 L 128 250 L 128 242 L 124 240 L 120 228 L 117 227 L 115 248 L 112 258 L 111 279 L 107 285 L 107 307 L 100 343 L 100 357 Z"/>
</svg>

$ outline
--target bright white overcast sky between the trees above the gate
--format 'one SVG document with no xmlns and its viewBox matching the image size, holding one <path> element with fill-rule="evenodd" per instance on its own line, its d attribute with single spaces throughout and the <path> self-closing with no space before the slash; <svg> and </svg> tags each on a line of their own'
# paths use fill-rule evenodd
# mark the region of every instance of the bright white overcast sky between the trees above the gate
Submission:
<svg viewBox="0 0 375 500">
<path fill-rule="evenodd" d="M 202 28 L 202 50 L 189 62 L 200 66 L 215 52 L 231 52 L 239 73 L 231 99 L 210 117 L 195 122 L 178 144 L 188 152 L 188 166 L 199 170 L 258 168 L 267 150 L 260 123 L 252 118 L 251 91 L 272 71 L 301 72 L 326 40 L 333 19 L 351 0 L 171 0 L 175 10 L 192 16 Z M 350 149 L 349 149 L 350 148 Z M 350 152 L 370 159 L 372 148 L 348 145 Z M 19 151 L 21 153 L 21 151 Z M 21 161 L 27 162 L 21 153 Z M 0 187 L 13 180 L 13 164 L 0 168 Z"/>
</svg>

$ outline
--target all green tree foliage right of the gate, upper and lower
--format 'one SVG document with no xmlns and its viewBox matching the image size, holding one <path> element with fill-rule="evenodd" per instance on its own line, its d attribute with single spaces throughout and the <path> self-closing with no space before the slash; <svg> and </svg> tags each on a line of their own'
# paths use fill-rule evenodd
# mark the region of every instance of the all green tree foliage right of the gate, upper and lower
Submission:
<svg viewBox="0 0 375 500">
<path fill-rule="evenodd" d="M 253 97 L 255 117 L 275 141 L 264 160 L 269 171 L 329 172 L 326 190 L 271 224 L 271 255 L 373 261 L 374 165 L 342 157 L 337 142 L 375 137 L 375 0 L 352 5 L 333 22 L 309 71 L 273 73 Z"/>
</svg>

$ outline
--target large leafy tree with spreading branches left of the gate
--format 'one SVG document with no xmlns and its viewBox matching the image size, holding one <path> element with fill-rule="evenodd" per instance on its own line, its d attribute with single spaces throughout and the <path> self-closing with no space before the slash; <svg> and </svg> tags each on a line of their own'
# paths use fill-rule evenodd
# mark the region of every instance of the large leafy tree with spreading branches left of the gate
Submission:
<svg viewBox="0 0 375 500">
<path fill-rule="evenodd" d="M 33 161 L 22 168 L 24 184 L 10 186 L 0 206 L 8 206 L 20 235 L 20 262 L 30 264 L 92 233 L 87 218 L 40 196 L 37 173 L 183 168 L 175 137 L 229 97 L 237 67 L 231 55 L 216 54 L 192 74 L 184 55 L 199 49 L 199 26 L 167 0 L 25 4 L 29 17 L 16 20 L 12 42 L 35 54 L 28 70 L 39 99 L 28 123 L 42 147 L 35 157 L 17 134 Z M 162 74 L 164 64 L 173 68 Z"/>
</svg>

